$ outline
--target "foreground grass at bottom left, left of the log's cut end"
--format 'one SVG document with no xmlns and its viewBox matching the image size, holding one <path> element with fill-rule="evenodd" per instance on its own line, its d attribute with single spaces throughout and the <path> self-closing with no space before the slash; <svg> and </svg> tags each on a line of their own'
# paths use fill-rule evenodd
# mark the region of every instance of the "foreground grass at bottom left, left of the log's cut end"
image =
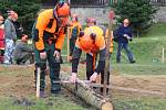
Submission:
<svg viewBox="0 0 166 110">
<path fill-rule="evenodd" d="M 68 108 L 68 109 L 66 109 Z M 71 101 L 65 96 L 51 97 L 49 99 L 17 99 L 14 97 L 1 97 L 0 110 L 89 110 Z M 92 110 L 92 109 L 91 109 Z"/>
</svg>

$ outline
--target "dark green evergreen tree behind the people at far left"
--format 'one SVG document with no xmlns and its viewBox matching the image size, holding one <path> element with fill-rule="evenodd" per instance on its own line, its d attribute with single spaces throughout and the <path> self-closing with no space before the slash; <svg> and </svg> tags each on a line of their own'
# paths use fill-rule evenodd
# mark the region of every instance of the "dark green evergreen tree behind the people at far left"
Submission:
<svg viewBox="0 0 166 110">
<path fill-rule="evenodd" d="M 0 11 L 4 18 L 9 9 L 18 13 L 18 21 L 22 24 L 24 33 L 30 35 L 37 12 L 40 10 L 40 0 L 0 0 Z"/>
</svg>

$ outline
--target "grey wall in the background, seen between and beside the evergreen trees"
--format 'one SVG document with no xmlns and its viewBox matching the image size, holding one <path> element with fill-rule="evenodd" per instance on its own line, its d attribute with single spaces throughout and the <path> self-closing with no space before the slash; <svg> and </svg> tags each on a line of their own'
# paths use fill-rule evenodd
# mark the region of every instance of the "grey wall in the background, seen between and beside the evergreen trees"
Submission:
<svg viewBox="0 0 166 110">
<path fill-rule="evenodd" d="M 107 8 L 72 8 L 72 13 L 79 14 L 79 20 L 82 24 L 85 24 L 85 20 L 89 16 L 95 18 L 98 24 L 108 23 L 108 9 Z M 155 22 L 166 22 L 166 7 L 160 7 L 155 14 Z"/>
</svg>

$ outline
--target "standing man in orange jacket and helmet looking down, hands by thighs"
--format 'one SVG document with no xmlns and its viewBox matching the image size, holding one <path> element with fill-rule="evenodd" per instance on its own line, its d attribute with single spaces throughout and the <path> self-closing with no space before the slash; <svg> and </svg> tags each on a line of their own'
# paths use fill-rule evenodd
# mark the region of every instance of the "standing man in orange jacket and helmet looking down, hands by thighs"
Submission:
<svg viewBox="0 0 166 110">
<path fill-rule="evenodd" d="M 50 67 L 51 94 L 58 94 L 61 90 L 59 80 L 60 74 L 60 53 L 64 42 L 65 28 L 70 15 L 68 3 L 60 1 L 54 9 L 42 11 L 38 19 L 34 30 L 34 55 L 35 68 L 40 67 L 40 96 L 45 97 L 45 69 L 46 61 Z M 34 70 L 37 76 L 37 69 Z"/>
</svg>

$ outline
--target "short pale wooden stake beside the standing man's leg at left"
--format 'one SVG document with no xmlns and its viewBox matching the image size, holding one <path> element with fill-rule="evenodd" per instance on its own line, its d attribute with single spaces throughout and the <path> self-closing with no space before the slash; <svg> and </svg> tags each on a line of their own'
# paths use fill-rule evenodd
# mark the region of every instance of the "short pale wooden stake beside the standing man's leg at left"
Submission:
<svg viewBox="0 0 166 110">
<path fill-rule="evenodd" d="M 37 98 L 40 98 L 40 67 L 37 69 Z"/>
</svg>

